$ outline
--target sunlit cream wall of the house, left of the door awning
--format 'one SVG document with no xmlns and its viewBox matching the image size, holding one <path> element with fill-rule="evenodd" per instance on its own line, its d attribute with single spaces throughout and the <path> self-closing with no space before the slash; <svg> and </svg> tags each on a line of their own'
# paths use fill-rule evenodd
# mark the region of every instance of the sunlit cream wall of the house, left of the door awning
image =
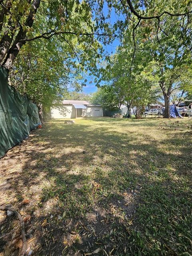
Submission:
<svg viewBox="0 0 192 256">
<path fill-rule="evenodd" d="M 60 108 L 51 108 L 51 118 L 75 118 L 76 110 L 73 105 L 62 105 Z"/>
</svg>

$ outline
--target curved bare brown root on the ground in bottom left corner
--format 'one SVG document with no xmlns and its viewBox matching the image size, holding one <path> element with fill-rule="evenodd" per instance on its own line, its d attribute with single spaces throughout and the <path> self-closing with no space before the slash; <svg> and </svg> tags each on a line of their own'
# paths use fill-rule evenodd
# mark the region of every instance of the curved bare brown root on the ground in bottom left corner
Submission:
<svg viewBox="0 0 192 256">
<path fill-rule="evenodd" d="M 22 234 L 22 250 L 20 251 L 20 256 L 24 256 L 26 253 L 26 249 L 27 249 L 27 240 L 26 240 L 26 233 L 25 233 L 25 224 L 23 221 L 23 218 L 21 217 L 21 215 L 18 213 L 18 211 L 16 211 L 11 204 L 7 204 L 7 205 L 2 205 L 0 206 L 0 210 L 9 210 L 11 212 L 13 212 L 16 217 L 18 218 L 19 222 L 20 222 L 20 226 L 21 226 L 21 234 Z"/>
</svg>

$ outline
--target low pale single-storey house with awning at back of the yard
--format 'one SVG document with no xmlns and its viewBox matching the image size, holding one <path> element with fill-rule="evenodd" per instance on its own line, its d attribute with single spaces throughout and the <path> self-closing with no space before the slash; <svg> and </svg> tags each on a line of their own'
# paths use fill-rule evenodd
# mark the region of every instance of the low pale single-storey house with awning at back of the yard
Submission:
<svg viewBox="0 0 192 256">
<path fill-rule="evenodd" d="M 57 108 L 51 108 L 51 118 L 101 117 L 103 109 L 86 100 L 63 100 Z"/>
</svg>

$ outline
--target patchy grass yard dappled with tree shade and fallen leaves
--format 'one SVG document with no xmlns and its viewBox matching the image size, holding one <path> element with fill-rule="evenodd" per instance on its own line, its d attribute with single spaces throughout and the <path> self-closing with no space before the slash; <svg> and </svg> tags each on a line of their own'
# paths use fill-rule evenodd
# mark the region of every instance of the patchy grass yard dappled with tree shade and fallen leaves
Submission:
<svg viewBox="0 0 192 256">
<path fill-rule="evenodd" d="M 28 253 L 190 256 L 191 128 L 90 118 L 33 131 L 0 160 L 1 202 L 25 219 Z M 0 255 L 17 255 L 18 221 L 3 214 Z"/>
</svg>

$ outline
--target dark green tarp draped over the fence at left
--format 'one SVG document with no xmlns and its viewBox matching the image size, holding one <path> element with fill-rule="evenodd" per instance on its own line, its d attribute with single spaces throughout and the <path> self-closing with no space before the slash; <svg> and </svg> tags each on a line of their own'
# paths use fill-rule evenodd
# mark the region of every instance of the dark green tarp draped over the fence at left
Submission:
<svg viewBox="0 0 192 256">
<path fill-rule="evenodd" d="M 8 71 L 0 66 L 0 157 L 39 124 L 37 105 L 8 85 Z"/>
</svg>

